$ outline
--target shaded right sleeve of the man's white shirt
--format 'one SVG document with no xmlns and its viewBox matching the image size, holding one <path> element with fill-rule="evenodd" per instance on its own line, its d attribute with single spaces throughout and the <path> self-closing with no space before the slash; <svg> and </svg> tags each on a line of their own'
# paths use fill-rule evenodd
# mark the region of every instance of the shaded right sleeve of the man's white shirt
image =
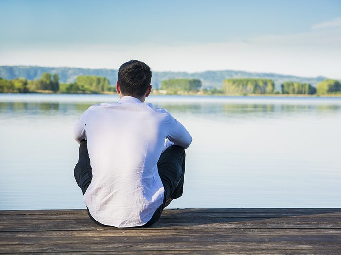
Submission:
<svg viewBox="0 0 341 255">
<path fill-rule="evenodd" d="M 179 145 L 184 149 L 187 149 L 193 140 L 187 129 L 170 114 L 167 139 L 169 141 L 166 140 L 165 145 Z"/>
</svg>

